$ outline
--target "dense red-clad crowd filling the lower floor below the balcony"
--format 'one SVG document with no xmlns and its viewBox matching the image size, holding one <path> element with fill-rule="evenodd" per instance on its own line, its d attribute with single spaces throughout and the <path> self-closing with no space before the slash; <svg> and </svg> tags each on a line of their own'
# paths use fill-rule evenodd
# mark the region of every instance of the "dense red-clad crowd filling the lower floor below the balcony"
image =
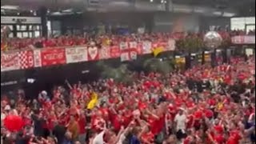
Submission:
<svg viewBox="0 0 256 144">
<path fill-rule="evenodd" d="M 194 66 L 163 75 L 134 73 L 134 83 L 100 79 L 58 86 L 38 98 L 2 97 L 1 120 L 24 120 L 2 141 L 29 144 L 246 144 L 255 142 L 255 62 Z M 67 88 L 68 87 L 68 88 Z M 95 100 L 95 106 L 90 102 Z M 2 142 L 1 142 L 2 143 Z"/>
</svg>

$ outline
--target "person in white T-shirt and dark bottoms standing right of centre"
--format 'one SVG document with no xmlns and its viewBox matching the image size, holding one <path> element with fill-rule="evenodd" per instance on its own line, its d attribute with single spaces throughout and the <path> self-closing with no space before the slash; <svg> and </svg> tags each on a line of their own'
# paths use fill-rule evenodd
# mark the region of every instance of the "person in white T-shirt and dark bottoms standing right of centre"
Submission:
<svg viewBox="0 0 256 144">
<path fill-rule="evenodd" d="M 180 140 L 186 137 L 186 114 L 180 109 L 174 118 L 176 125 L 177 138 Z"/>
</svg>

